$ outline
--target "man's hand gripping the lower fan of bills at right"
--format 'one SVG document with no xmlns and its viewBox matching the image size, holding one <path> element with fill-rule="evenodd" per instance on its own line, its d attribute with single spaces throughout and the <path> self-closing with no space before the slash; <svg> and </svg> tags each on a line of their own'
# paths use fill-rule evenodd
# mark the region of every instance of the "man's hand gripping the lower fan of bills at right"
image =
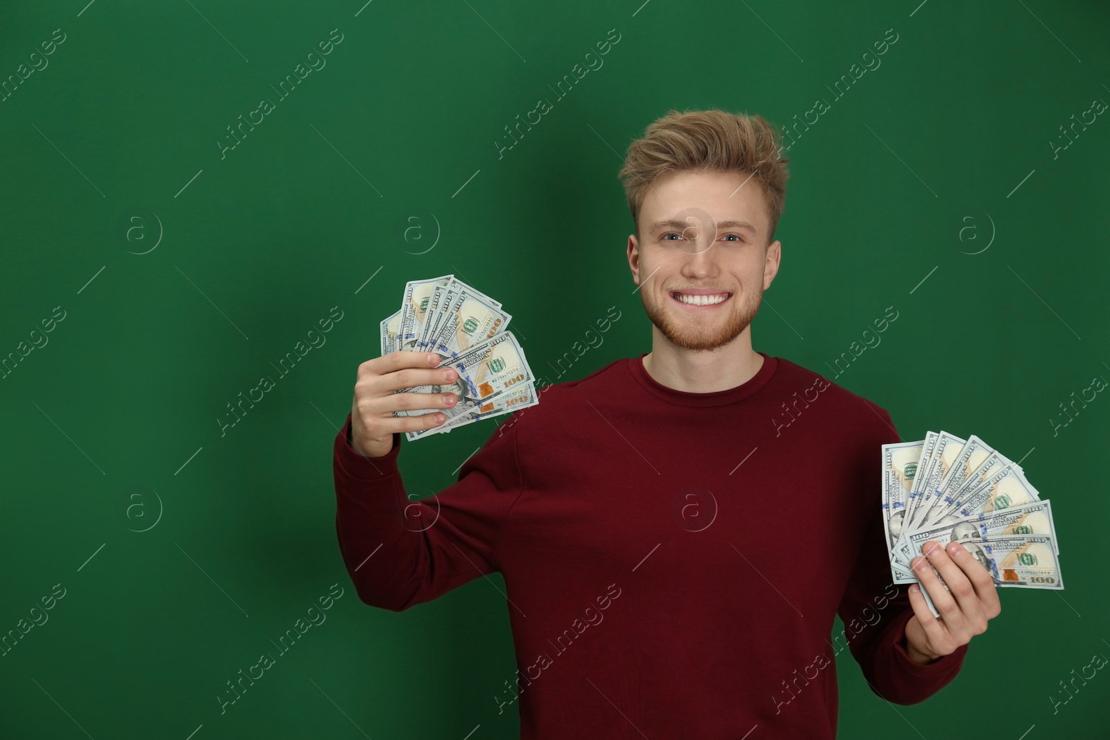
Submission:
<svg viewBox="0 0 1110 740">
<path fill-rule="evenodd" d="M 950 543 L 948 551 L 929 540 L 910 566 L 921 586 L 929 592 L 940 618 L 932 611 L 917 584 L 909 587 L 914 616 L 906 622 L 907 655 L 916 663 L 930 663 L 953 652 L 987 631 L 987 622 L 1001 612 L 995 580 L 963 546 Z M 937 570 L 934 571 L 929 565 Z M 937 572 L 948 584 L 944 587 Z"/>
</svg>

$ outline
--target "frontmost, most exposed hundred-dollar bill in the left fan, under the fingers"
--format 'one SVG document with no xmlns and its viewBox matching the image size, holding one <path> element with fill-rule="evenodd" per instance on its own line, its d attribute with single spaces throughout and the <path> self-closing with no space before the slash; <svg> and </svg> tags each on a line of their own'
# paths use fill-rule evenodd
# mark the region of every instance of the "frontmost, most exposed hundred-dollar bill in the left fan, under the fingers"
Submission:
<svg viewBox="0 0 1110 740">
<path fill-rule="evenodd" d="M 396 410 L 394 416 L 423 416 L 438 410 L 446 416 L 444 424 L 473 408 L 506 393 L 515 385 L 532 383 L 535 376 L 524 358 L 524 351 L 512 332 L 503 332 L 474 345 L 458 357 L 446 358 L 443 367 L 454 368 L 458 379 L 454 383 L 413 386 L 396 393 L 454 393 L 457 403 L 451 408 Z M 426 391 L 425 391 L 426 388 Z"/>
</svg>

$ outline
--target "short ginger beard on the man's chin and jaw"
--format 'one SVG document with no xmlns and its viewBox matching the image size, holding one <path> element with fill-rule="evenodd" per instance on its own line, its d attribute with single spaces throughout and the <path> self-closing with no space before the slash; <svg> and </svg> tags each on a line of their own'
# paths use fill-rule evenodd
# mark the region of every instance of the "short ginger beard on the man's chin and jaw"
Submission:
<svg viewBox="0 0 1110 740">
<path fill-rule="evenodd" d="M 643 266 L 640 268 L 643 270 Z M 716 349 L 728 344 L 751 324 L 763 303 L 763 283 L 751 285 L 744 281 L 740 293 L 733 293 L 725 301 L 728 305 L 722 306 L 727 310 L 722 321 L 720 316 L 715 315 L 720 313 L 719 310 L 705 312 L 706 315 L 700 316 L 698 312 L 686 312 L 677 304 L 668 305 L 675 303 L 670 297 L 672 290 L 680 288 L 664 291 L 662 296 L 655 291 L 642 290 L 639 296 L 652 323 L 663 336 L 684 349 Z M 682 315 L 687 313 L 689 315 Z"/>
</svg>

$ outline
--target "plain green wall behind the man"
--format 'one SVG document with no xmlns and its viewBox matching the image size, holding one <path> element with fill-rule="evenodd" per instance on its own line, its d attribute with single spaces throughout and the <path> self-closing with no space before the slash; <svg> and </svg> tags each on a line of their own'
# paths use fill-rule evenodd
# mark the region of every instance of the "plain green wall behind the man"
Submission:
<svg viewBox="0 0 1110 740">
<path fill-rule="evenodd" d="M 85 2 L 4 3 L 0 22 L 3 78 L 67 34 L 0 102 L 0 353 L 65 312 L 0 381 L 0 630 L 65 589 L 0 658 L 0 734 L 516 737 L 495 699 L 515 669 L 497 589 L 393 614 L 357 600 L 340 558 L 332 440 L 377 323 L 405 281 L 455 273 L 504 303 L 538 374 L 622 311 L 551 382 L 647 352 L 628 142 L 670 109 L 785 125 L 824 98 L 788 152 L 755 347 L 886 407 L 906 439 L 975 433 L 1025 456 L 1068 586 L 1006 591 L 922 704 L 875 697 L 841 655 L 840 737 L 1106 737 L 1106 671 L 1056 713 L 1050 697 L 1110 656 L 1110 399 L 1050 419 L 1110 377 L 1110 121 L 1049 143 L 1110 101 L 1104 3 Z M 221 159 L 226 126 L 332 29 L 326 67 Z M 610 29 L 604 67 L 556 100 Z M 836 100 L 826 85 L 888 29 L 881 67 Z M 541 98 L 553 110 L 498 158 Z M 225 405 L 333 306 L 326 344 L 221 436 Z M 828 371 L 887 306 L 881 344 Z M 408 490 L 450 485 L 500 420 L 410 445 Z M 221 714 L 225 681 L 332 584 L 326 622 Z"/>
</svg>

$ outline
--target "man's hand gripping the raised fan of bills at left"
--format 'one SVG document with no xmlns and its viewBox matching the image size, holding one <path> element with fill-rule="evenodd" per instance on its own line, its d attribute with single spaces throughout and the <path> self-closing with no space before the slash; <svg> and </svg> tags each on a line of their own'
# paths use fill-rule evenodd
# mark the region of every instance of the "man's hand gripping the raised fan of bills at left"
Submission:
<svg viewBox="0 0 1110 740">
<path fill-rule="evenodd" d="M 458 398 L 453 393 L 394 393 L 417 385 L 454 383 L 457 373 L 436 367 L 440 355 L 397 349 L 359 365 L 351 405 L 351 444 L 367 457 L 381 457 L 393 448 L 393 435 L 440 426 L 444 414 L 394 416 L 396 410 L 450 408 Z"/>
</svg>

